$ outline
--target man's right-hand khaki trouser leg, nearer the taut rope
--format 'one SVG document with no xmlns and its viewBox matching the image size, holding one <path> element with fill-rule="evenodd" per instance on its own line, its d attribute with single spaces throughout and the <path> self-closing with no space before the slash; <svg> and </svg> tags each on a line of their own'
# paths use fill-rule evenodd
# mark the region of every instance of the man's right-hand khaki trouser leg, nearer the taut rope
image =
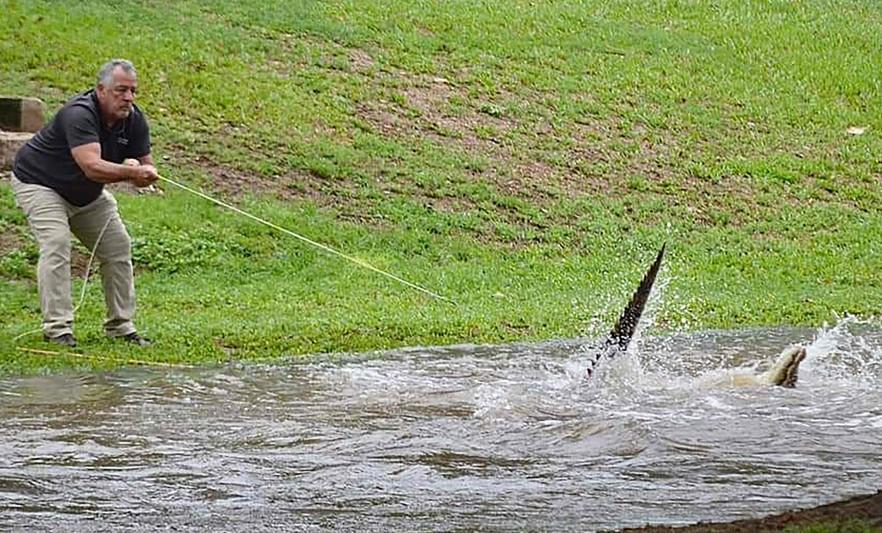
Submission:
<svg viewBox="0 0 882 533">
<path fill-rule="evenodd" d="M 94 249 L 96 242 L 98 245 L 95 256 L 101 261 L 101 281 L 104 285 L 104 302 L 107 304 L 104 331 L 110 337 L 134 333 L 132 240 L 119 217 L 116 199 L 105 190 L 97 200 L 75 210 L 70 226 L 87 248 Z"/>
</svg>

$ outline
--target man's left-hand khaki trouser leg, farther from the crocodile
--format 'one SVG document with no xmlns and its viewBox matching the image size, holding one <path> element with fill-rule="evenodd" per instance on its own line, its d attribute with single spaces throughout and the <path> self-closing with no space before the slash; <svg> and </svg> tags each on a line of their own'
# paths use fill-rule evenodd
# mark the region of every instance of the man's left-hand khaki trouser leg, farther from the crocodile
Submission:
<svg viewBox="0 0 882 533">
<path fill-rule="evenodd" d="M 40 247 L 37 287 L 43 310 L 43 333 L 50 338 L 73 334 L 68 225 L 71 206 L 52 189 L 22 183 L 14 176 L 12 190 Z"/>
</svg>

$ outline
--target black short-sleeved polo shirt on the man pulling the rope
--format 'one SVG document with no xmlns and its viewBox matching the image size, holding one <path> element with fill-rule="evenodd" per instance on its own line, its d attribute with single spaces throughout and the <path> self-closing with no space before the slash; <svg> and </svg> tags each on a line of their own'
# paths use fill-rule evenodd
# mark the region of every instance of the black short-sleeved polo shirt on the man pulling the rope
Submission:
<svg viewBox="0 0 882 533">
<path fill-rule="evenodd" d="M 84 206 L 101 195 L 104 184 L 87 178 L 70 151 L 93 142 L 101 144 L 101 159 L 122 163 L 150 153 L 150 127 L 135 106 L 125 120 L 108 129 L 91 90 L 69 100 L 22 146 L 12 172 L 24 183 L 49 187 L 73 205 Z"/>
</svg>

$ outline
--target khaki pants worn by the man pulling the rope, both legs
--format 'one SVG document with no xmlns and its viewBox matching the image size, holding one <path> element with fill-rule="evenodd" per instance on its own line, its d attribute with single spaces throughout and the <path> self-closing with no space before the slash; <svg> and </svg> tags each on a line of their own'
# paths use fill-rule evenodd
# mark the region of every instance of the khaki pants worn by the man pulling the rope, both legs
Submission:
<svg viewBox="0 0 882 533">
<path fill-rule="evenodd" d="M 95 251 L 95 257 L 101 262 L 107 305 L 104 330 L 111 337 L 133 333 L 135 282 L 131 238 L 119 217 L 113 195 L 105 190 L 94 202 L 77 207 L 52 189 L 22 183 L 15 176 L 12 177 L 12 190 L 40 246 L 37 286 L 43 310 L 43 333 L 48 337 L 73 333 L 71 232 L 92 250 L 105 223 L 107 229 Z"/>
</svg>

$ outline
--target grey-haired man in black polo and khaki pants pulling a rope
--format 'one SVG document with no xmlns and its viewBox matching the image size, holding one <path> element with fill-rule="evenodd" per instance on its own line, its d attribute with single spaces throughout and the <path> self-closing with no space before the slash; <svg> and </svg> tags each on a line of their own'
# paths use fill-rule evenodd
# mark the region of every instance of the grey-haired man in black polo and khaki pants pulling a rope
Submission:
<svg viewBox="0 0 882 533">
<path fill-rule="evenodd" d="M 37 285 L 43 311 L 43 337 L 75 347 L 70 281 L 71 232 L 101 262 L 105 333 L 139 346 L 131 239 L 106 183 L 128 181 L 138 187 L 159 175 L 150 155 L 150 130 L 134 104 L 138 89 L 134 66 L 109 61 L 94 89 L 80 94 L 19 151 L 12 188 L 40 247 Z M 103 233 L 102 233 L 103 232 Z M 100 237 L 100 238 L 99 238 Z"/>
</svg>

